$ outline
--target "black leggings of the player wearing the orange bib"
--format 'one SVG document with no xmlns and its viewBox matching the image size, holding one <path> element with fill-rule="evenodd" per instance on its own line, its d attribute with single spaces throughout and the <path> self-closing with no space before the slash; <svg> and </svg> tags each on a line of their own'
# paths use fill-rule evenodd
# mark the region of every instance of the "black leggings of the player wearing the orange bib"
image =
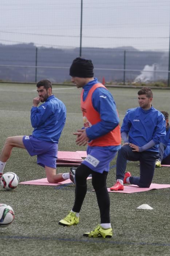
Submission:
<svg viewBox="0 0 170 256">
<path fill-rule="evenodd" d="M 84 197 L 86 196 L 87 192 L 86 179 L 90 174 L 92 174 L 92 185 L 96 192 L 101 223 L 110 223 L 110 198 L 106 187 L 108 172 L 94 172 L 83 163 L 76 169 L 75 173 L 75 202 L 72 210 L 75 212 L 80 212 Z"/>
</svg>

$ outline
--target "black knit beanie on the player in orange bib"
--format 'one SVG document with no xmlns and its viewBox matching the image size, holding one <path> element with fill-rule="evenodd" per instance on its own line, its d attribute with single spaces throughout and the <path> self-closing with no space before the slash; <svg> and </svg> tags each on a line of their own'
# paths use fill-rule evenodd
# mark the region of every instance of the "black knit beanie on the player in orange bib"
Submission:
<svg viewBox="0 0 170 256">
<path fill-rule="evenodd" d="M 77 76 L 81 78 L 93 77 L 93 64 L 91 60 L 76 58 L 70 67 L 70 76 Z"/>
</svg>

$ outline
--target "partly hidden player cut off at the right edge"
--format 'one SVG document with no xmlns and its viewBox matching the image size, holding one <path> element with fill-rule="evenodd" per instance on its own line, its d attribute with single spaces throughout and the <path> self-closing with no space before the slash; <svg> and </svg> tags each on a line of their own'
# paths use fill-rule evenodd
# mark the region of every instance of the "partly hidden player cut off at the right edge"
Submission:
<svg viewBox="0 0 170 256">
<path fill-rule="evenodd" d="M 159 144 L 159 158 L 155 162 L 155 167 L 161 167 L 162 165 L 170 165 L 170 128 L 169 128 L 169 114 L 166 111 L 161 111 L 165 116 L 166 121 L 166 135 L 162 138 Z"/>
</svg>

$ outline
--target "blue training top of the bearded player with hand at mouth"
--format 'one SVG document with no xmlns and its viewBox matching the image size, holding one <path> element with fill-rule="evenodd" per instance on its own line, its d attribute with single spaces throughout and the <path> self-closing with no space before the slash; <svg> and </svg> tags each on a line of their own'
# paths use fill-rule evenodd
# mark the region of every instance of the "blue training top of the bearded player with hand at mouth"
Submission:
<svg viewBox="0 0 170 256">
<path fill-rule="evenodd" d="M 66 106 L 54 95 L 31 109 L 32 135 L 37 139 L 58 143 L 65 122 Z"/>
</svg>

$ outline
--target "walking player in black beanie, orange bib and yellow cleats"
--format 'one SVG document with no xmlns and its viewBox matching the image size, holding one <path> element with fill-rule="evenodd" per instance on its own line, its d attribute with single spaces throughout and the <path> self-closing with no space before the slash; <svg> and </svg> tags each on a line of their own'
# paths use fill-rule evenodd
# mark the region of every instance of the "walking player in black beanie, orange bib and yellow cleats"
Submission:
<svg viewBox="0 0 170 256">
<path fill-rule="evenodd" d="M 79 212 L 87 192 L 86 179 L 91 174 L 100 210 L 100 225 L 83 236 L 105 238 L 112 237 L 106 179 L 110 162 L 120 149 L 121 137 L 115 101 L 106 87 L 94 78 L 93 68 L 91 60 L 80 57 L 70 67 L 72 82 L 77 88 L 83 88 L 81 108 L 84 128 L 74 133 L 77 135 L 76 144 L 88 146 L 87 157 L 72 177 L 76 184 L 74 206 L 59 224 L 71 226 L 79 223 Z"/>
</svg>

